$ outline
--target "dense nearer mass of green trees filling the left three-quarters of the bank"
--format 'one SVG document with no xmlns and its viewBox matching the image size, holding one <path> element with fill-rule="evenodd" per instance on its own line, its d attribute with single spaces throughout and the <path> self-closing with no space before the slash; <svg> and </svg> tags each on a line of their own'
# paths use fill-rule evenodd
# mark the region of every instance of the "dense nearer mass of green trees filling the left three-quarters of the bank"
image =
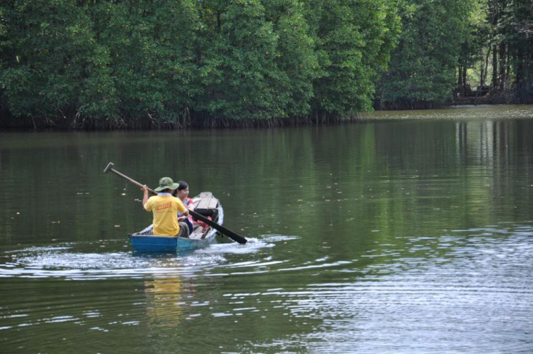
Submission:
<svg viewBox="0 0 533 354">
<path fill-rule="evenodd" d="M 387 0 L 7 0 L 2 124 L 187 127 L 370 109 Z"/>
</svg>

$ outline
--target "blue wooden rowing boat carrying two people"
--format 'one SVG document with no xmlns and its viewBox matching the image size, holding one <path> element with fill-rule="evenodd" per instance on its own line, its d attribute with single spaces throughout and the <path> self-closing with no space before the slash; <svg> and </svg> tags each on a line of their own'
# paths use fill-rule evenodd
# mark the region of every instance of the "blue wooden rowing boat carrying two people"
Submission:
<svg viewBox="0 0 533 354">
<path fill-rule="evenodd" d="M 203 192 L 193 198 L 194 210 L 206 218 L 222 225 L 224 210 L 220 201 L 210 192 Z M 189 237 L 169 237 L 152 234 L 153 225 L 129 235 L 135 252 L 178 252 L 206 247 L 215 240 L 218 231 L 208 225 L 195 225 Z"/>
</svg>

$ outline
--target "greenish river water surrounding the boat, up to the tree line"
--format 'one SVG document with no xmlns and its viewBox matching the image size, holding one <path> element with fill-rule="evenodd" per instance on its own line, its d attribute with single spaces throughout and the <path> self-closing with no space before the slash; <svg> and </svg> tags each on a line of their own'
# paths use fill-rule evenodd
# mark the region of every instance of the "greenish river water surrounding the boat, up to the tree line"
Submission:
<svg viewBox="0 0 533 354">
<path fill-rule="evenodd" d="M 533 106 L 232 132 L 0 133 L 1 353 L 532 353 Z M 107 163 L 225 226 L 139 256 Z"/>
</svg>

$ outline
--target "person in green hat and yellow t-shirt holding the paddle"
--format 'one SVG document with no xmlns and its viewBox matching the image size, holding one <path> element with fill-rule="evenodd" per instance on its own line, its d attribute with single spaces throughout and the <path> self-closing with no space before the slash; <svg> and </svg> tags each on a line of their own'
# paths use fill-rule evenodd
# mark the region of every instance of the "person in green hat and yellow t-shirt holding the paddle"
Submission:
<svg viewBox="0 0 533 354">
<path fill-rule="evenodd" d="M 178 223 L 178 212 L 186 217 L 189 210 L 183 205 L 179 198 L 175 198 L 171 193 L 178 188 L 179 184 L 174 183 L 172 178 L 163 177 L 159 180 L 159 186 L 154 191 L 158 195 L 148 198 L 148 187 L 143 186 L 143 207 L 146 211 L 151 211 L 154 215 L 154 235 L 158 236 L 181 236 L 188 237 L 188 227 L 180 227 Z"/>
</svg>

